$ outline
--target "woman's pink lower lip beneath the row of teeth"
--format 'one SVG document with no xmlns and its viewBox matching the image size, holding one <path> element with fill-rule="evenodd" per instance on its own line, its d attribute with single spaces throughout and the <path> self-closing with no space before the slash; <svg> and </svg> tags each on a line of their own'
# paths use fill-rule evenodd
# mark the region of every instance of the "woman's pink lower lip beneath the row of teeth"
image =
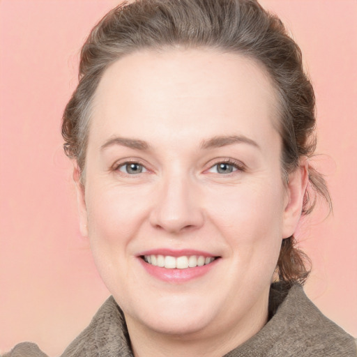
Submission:
<svg viewBox="0 0 357 357">
<path fill-rule="evenodd" d="M 145 270 L 153 275 L 155 278 L 158 278 L 164 282 L 172 282 L 172 283 L 183 283 L 188 282 L 190 280 L 194 280 L 197 278 L 206 275 L 208 271 L 218 263 L 220 259 L 215 259 L 212 263 L 204 265 L 204 266 L 196 266 L 195 268 L 187 268 L 187 269 L 167 269 L 161 268 L 160 266 L 153 266 L 149 263 L 146 263 L 142 258 L 138 258 L 142 266 Z"/>
</svg>

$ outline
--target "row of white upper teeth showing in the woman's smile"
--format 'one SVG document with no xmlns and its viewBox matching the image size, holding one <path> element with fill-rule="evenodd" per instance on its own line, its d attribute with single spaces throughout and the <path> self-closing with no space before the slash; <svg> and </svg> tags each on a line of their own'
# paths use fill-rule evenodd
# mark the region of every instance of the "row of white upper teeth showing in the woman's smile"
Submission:
<svg viewBox="0 0 357 357">
<path fill-rule="evenodd" d="M 171 257 L 169 255 L 144 255 L 144 261 L 153 266 L 165 267 L 167 269 L 187 269 L 196 266 L 204 266 L 212 263 L 213 257 L 204 257 L 203 255 L 190 255 L 183 257 Z"/>
</svg>

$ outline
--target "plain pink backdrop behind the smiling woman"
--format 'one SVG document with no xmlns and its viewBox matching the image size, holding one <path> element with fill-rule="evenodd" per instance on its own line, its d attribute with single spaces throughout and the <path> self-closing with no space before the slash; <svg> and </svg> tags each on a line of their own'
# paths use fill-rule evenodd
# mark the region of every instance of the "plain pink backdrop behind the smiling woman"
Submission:
<svg viewBox="0 0 357 357">
<path fill-rule="evenodd" d="M 116 3 L 0 2 L 0 353 L 29 340 L 59 355 L 109 295 L 79 234 L 60 122 L 79 48 Z M 334 215 L 320 210 L 299 231 L 307 294 L 357 336 L 357 1 L 261 3 L 294 33 L 317 93 L 316 161 Z"/>
</svg>

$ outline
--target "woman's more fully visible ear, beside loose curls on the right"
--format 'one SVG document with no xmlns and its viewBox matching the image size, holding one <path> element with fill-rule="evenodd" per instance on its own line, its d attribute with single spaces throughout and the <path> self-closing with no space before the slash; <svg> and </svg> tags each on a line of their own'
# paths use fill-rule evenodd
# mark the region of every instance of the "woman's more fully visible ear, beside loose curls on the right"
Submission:
<svg viewBox="0 0 357 357">
<path fill-rule="evenodd" d="M 309 181 L 308 162 L 302 157 L 299 166 L 289 174 L 287 183 L 287 199 L 284 206 L 284 217 L 282 223 L 282 238 L 288 238 L 294 234 L 301 217 L 303 200 Z"/>
</svg>

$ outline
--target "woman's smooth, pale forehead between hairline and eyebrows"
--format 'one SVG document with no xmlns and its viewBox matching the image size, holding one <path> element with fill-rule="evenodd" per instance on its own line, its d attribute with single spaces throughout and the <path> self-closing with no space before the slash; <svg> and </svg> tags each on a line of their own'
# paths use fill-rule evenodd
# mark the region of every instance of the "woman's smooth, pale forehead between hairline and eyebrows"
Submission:
<svg viewBox="0 0 357 357">
<path fill-rule="evenodd" d="M 232 130 L 264 141 L 275 126 L 277 102 L 264 68 L 245 56 L 214 50 L 139 51 L 103 74 L 89 138 L 150 139 L 149 132 L 160 126 L 160 138 L 168 141 L 178 133 L 204 139 Z"/>
</svg>

